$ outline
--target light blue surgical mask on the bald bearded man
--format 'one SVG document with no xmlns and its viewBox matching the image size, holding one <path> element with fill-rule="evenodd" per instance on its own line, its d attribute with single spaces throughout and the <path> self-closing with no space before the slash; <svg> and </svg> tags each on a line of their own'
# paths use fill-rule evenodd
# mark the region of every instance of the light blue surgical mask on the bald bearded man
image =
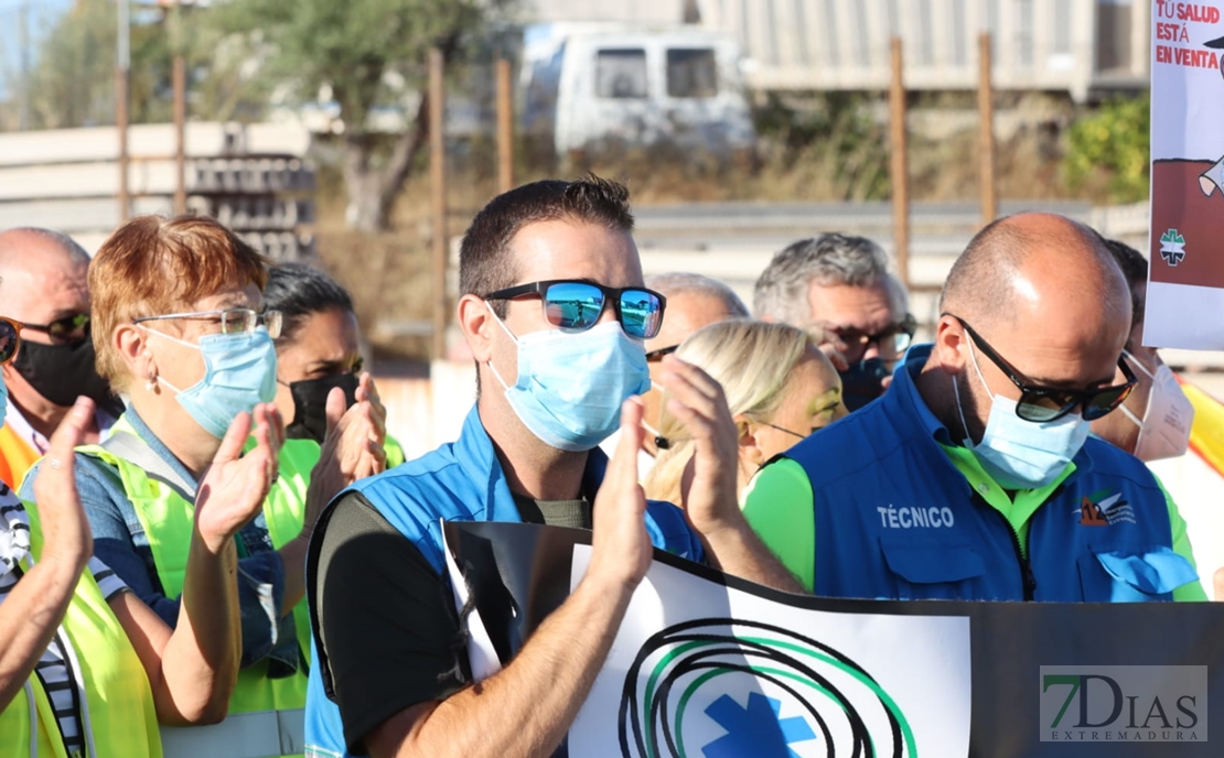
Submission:
<svg viewBox="0 0 1224 758">
<path fill-rule="evenodd" d="M 982 386 L 989 392 L 990 385 L 978 368 L 972 344 L 969 358 Z M 952 390 L 956 394 L 956 411 L 961 414 L 961 427 L 968 434 L 956 377 L 952 377 Z M 1067 413 L 1044 423 L 1024 421 L 1016 416 L 1015 400 L 993 395 L 982 441 L 974 445 L 973 440 L 966 439 L 963 445 L 973 451 L 982 468 L 1004 489 L 1039 489 L 1058 479 L 1083 447 L 1086 439 L 1088 422 L 1080 413 Z"/>
</svg>

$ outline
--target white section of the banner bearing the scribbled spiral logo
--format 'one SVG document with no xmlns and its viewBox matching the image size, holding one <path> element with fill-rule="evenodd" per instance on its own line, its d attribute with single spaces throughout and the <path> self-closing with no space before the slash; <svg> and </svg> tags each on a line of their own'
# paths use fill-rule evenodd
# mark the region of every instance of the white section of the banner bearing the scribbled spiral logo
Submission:
<svg viewBox="0 0 1224 758">
<path fill-rule="evenodd" d="M 572 587 L 590 548 L 575 545 Z M 569 731 L 583 758 L 955 758 L 969 620 L 793 608 L 651 564 Z"/>
</svg>

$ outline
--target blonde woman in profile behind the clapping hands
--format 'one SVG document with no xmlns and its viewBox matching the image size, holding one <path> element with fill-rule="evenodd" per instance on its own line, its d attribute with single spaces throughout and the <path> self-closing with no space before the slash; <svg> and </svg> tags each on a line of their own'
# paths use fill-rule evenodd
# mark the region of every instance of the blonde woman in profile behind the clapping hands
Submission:
<svg viewBox="0 0 1224 758">
<path fill-rule="evenodd" d="M 710 324 L 689 335 L 676 357 L 722 385 L 739 429 L 741 496 L 765 461 L 846 416 L 837 372 L 812 337 L 789 324 L 748 319 Z M 663 443 L 646 476 L 646 496 L 681 502 L 681 478 L 693 457 L 693 443 L 666 405 L 661 419 Z"/>
</svg>

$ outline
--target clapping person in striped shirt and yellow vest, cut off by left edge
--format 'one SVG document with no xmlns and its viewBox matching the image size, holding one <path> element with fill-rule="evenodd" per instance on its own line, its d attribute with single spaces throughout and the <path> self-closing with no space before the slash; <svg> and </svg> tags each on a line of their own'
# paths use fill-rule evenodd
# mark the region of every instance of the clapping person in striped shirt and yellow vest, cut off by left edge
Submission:
<svg viewBox="0 0 1224 758">
<path fill-rule="evenodd" d="M 0 318 L 0 364 L 22 324 Z M 0 381 L 0 416 L 6 392 Z M 73 447 L 93 417 L 77 400 L 22 502 L 0 483 L 0 745 L 22 756 L 162 756 L 158 725 L 219 721 L 237 679 L 234 535 L 275 473 L 275 407 L 237 414 L 214 450 L 185 537 L 176 615 L 154 614 L 93 556 Z M 252 429 L 252 417 L 255 421 Z M 244 444 L 250 449 L 242 454 Z"/>
</svg>

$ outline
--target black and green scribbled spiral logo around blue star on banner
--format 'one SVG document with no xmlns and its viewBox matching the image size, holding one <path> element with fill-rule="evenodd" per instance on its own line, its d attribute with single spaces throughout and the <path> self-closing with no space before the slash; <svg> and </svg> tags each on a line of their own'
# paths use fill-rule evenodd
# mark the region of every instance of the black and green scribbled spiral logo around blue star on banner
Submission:
<svg viewBox="0 0 1224 758">
<path fill-rule="evenodd" d="M 918 757 L 901 708 L 860 665 L 733 619 L 679 624 L 643 644 L 622 691 L 619 738 L 624 758 Z"/>
</svg>

